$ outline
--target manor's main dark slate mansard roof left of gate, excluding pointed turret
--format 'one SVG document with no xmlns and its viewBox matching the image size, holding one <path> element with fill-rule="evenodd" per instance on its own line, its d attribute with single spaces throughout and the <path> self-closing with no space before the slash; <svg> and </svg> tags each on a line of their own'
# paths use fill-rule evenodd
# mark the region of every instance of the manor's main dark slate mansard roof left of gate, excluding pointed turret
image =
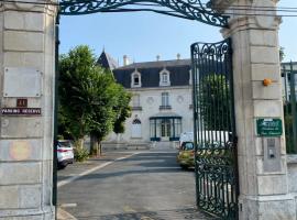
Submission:
<svg viewBox="0 0 297 220">
<path fill-rule="evenodd" d="M 117 81 L 131 88 L 131 74 L 141 73 L 142 88 L 158 87 L 160 72 L 166 68 L 170 74 L 170 86 L 189 85 L 190 59 L 134 63 L 113 69 Z"/>
</svg>

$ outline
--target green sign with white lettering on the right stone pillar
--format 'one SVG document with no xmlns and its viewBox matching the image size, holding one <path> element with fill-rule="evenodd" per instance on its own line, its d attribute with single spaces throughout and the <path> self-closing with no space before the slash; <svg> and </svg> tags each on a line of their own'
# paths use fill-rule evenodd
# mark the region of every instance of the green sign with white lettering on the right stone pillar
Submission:
<svg viewBox="0 0 297 220">
<path fill-rule="evenodd" d="M 283 124 L 280 119 L 256 119 L 256 134 L 260 136 L 280 136 Z"/>
</svg>

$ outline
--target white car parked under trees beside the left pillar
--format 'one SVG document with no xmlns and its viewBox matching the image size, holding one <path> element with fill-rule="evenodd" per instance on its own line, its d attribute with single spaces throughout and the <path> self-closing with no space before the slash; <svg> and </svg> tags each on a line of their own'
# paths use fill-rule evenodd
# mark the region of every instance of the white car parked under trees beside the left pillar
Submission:
<svg viewBox="0 0 297 220">
<path fill-rule="evenodd" d="M 68 164 L 74 163 L 74 147 L 69 140 L 57 142 L 57 166 L 65 168 Z"/>
</svg>

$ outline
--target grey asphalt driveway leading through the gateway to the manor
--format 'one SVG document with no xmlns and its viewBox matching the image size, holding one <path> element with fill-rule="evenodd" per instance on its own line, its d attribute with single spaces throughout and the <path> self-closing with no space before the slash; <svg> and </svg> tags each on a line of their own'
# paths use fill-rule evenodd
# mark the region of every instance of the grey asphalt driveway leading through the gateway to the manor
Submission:
<svg viewBox="0 0 297 220">
<path fill-rule="evenodd" d="M 59 187 L 58 204 L 72 205 L 64 209 L 77 219 L 211 219 L 195 209 L 194 170 L 180 169 L 175 156 L 147 151 L 116 161 Z"/>
</svg>

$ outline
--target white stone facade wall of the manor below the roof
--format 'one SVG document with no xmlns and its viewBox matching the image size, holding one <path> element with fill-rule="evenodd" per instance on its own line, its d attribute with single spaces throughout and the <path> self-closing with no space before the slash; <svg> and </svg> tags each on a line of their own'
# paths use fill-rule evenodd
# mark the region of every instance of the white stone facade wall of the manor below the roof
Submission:
<svg viewBox="0 0 297 220">
<path fill-rule="evenodd" d="M 133 110 L 131 118 L 125 122 L 125 132 L 121 135 L 121 142 L 128 143 L 146 143 L 151 141 L 150 136 L 150 117 L 160 112 L 172 112 L 182 117 L 182 132 L 193 131 L 193 109 L 189 107 L 191 101 L 191 86 L 183 87 L 157 87 L 157 88 L 133 88 L 129 90 L 132 95 L 140 95 L 140 107 L 142 110 Z M 160 110 L 162 106 L 162 92 L 169 94 L 170 110 Z M 150 100 L 153 100 L 151 102 Z M 132 105 L 132 102 L 131 102 Z M 131 125 L 135 116 L 142 122 L 142 139 L 131 138 Z M 110 135 L 107 141 L 117 141 L 114 134 Z"/>
</svg>

